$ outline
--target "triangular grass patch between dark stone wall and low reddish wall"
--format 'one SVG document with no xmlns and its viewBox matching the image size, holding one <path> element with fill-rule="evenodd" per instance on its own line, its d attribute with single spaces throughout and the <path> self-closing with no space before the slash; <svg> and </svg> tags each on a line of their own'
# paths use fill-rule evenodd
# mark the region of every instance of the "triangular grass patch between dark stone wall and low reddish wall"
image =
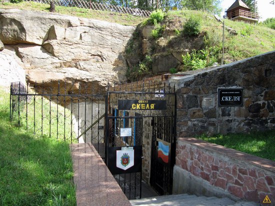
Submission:
<svg viewBox="0 0 275 206">
<path fill-rule="evenodd" d="M 265 132 L 201 135 L 197 138 L 275 161 L 275 130 Z"/>
</svg>

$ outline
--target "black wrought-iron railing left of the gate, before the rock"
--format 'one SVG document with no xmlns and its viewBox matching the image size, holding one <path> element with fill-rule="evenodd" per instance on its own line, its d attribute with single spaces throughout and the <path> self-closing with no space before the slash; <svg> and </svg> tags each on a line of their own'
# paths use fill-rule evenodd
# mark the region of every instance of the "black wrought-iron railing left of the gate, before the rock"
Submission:
<svg viewBox="0 0 275 206">
<path fill-rule="evenodd" d="M 105 88 L 91 83 L 10 84 L 10 120 L 36 135 L 72 142 L 104 142 Z M 81 137 L 81 138 L 80 138 Z"/>
</svg>

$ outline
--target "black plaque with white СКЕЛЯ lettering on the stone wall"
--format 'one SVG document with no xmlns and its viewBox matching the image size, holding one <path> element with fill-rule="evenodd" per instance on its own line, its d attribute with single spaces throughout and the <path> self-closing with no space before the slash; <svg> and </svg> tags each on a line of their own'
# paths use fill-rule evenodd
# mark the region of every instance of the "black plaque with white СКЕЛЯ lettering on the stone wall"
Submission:
<svg viewBox="0 0 275 206">
<path fill-rule="evenodd" d="M 219 106 L 242 106 L 242 88 L 218 88 Z"/>
</svg>

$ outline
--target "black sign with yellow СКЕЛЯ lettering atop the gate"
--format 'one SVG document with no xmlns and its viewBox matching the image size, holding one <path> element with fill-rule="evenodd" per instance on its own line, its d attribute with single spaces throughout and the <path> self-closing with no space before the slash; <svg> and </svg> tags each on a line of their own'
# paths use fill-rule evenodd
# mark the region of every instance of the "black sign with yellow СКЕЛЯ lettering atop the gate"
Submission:
<svg viewBox="0 0 275 206">
<path fill-rule="evenodd" d="M 166 100 L 122 100 L 118 99 L 119 110 L 163 110 Z"/>
</svg>

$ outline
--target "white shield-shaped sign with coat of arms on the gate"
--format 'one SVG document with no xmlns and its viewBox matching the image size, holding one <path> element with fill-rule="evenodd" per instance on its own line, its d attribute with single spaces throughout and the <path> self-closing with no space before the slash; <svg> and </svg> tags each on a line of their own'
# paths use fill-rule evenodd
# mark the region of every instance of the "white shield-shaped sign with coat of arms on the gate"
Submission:
<svg viewBox="0 0 275 206">
<path fill-rule="evenodd" d="M 126 170 L 134 164 L 133 147 L 122 147 L 116 150 L 116 167 Z"/>
</svg>

